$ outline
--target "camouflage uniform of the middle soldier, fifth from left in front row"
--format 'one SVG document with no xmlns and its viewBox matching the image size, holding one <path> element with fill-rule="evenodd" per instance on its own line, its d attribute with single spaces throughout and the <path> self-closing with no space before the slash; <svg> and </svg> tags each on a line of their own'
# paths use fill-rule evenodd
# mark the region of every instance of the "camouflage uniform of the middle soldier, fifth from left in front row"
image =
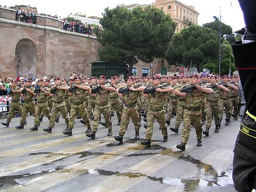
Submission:
<svg viewBox="0 0 256 192">
<path fill-rule="evenodd" d="M 84 86 L 83 84 L 80 84 L 80 86 Z M 87 109 L 86 109 L 86 103 L 84 102 L 84 92 L 86 90 L 75 88 L 75 93 L 73 93 L 73 100 L 71 105 L 71 111 L 70 111 L 70 119 L 69 119 L 69 128 L 74 128 L 75 118 L 76 115 L 80 115 L 82 117 L 82 120 L 86 123 L 86 125 L 91 128 L 91 124 L 87 115 Z"/>
</svg>

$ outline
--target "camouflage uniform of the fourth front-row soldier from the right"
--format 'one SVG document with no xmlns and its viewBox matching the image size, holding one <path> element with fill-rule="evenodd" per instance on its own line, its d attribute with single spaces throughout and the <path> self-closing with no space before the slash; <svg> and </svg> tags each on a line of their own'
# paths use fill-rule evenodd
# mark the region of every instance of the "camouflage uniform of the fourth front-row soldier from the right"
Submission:
<svg viewBox="0 0 256 192">
<path fill-rule="evenodd" d="M 104 89 L 99 89 L 99 92 L 101 94 L 97 93 L 95 109 L 93 112 L 94 120 L 93 120 L 92 131 L 94 131 L 95 133 L 97 132 L 97 129 L 98 129 L 98 124 L 99 124 L 101 113 L 104 116 L 106 126 L 108 127 L 109 131 L 112 131 L 112 122 L 110 120 L 110 117 L 111 117 L 110 103 L 109 103 L 110 91 L 104 90 Z"/>
</svg>

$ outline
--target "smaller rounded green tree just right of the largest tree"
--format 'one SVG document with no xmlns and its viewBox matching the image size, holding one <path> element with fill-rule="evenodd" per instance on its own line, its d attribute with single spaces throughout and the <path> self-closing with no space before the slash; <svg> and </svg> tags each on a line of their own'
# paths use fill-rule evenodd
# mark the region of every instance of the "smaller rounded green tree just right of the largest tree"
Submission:
<svg viewBox="0 0 256 192">
<path fill-rule="evenodd" d="M 165 58 L 169 65 L 197 66 L 218 55 L 218 34 L 210 28 L 192 25 L 175 34 L 168 44 Z"/>
</svg>

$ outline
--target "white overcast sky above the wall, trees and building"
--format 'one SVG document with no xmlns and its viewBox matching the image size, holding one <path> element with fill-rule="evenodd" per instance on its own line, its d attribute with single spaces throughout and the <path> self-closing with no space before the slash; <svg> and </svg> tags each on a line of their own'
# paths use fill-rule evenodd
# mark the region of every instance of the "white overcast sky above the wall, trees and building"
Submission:
<svg viewBox="0 0 256 192">
<path fill-rule="evenodd" d="M 154 0 L 91 0 L 91 1 L 57 1 L 57 0 L 44 0 L 44 1 L 29 1 L 29 0 L 0 0 L 0 5 L 14 6 L 14 5 L 30 5 L 36 6 L 38 13 L 46 13 L 50 15 L 57 14 L 58 16 L 67 17 L 69 13 L 84 12 L 87 16 L 101 16 L 104 8 L 114 8 L 119 4 L 130 5 L 138 4 L 151 4 Z M 232 27 L 233 31 L 241 29 L 245 26 L 243 13 L 237 0 L 180 0 L 186 5 L 192 5 L 200 13 L 199 25 L 204 23 L 213 22 L 212 16 L 220 16 L 222 22 Z M 232 6 L 230 6 L 232 5 Z"/>
</svg>

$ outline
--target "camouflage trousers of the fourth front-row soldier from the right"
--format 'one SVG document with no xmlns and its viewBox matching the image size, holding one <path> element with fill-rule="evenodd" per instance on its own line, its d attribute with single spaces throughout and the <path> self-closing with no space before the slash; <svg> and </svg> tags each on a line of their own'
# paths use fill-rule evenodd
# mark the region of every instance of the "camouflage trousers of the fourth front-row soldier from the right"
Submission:
<svg viewBox="0 0 256 192">
<path fill-rule="evenodd" d="M 93 119 L 92 131 L 97 132 L 101 113 L 104 116 L 106 126 L 108 127 L 109 130 L 112 130 L 112 122 L 110 120 L 110 116 L 111 116 L 110 105 L 106 105 L 104 108 L 100 108 L 98 105 L 95 105 L 95 109 L 93 112 L 94 119 Z"/>
</svg>

